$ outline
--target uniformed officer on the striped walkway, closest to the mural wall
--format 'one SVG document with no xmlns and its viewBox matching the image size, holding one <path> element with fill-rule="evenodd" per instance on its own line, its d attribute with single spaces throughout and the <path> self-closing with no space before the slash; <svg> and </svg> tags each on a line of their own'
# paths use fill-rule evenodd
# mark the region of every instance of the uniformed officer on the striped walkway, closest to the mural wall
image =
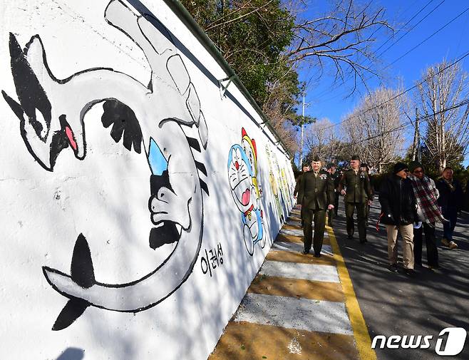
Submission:
<svg viewBox="0 0 469 360">
<path fill-rule="evenodd" d="M 311 170 L 303 175 L 298 200 L 303 212 L 304 254 L 309 254 L 313 243 L 314 257 L 321 256 L 326 211 L 334 209 L 334 182 L 321 170 L 321 160 L 313 158 Z M 314 239 L 312 222 L 314 220 Z"/>
</svg>

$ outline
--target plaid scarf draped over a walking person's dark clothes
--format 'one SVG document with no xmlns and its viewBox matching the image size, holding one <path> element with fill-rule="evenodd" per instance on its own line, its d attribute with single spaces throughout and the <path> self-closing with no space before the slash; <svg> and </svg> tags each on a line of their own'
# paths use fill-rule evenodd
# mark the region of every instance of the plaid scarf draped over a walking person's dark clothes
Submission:
<svg viewBox="0 0 469 360">
<path fill-rule="evenodd" d="M 413 193 L 416 195 L 417 205 L 424 217 L 423 221 L 445 222 L 436 201 L 436 189 L 431 185 L 430 178 L 426 175 L 423 175 L 422 179 L 414 175 L 408 175 L 408 178 L 412 181 Z"/>
</svg>

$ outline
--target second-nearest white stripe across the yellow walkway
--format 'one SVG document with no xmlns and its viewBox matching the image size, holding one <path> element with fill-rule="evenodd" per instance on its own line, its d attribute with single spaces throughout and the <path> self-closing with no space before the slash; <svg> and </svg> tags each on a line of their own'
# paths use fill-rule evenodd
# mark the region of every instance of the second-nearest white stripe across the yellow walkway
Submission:
<svg viewBox="0 0 469 360">
<path fill-rule="evenodd" d="M 298 264 L 297 262 L 267 260 L 262 264 L 259 274 L 319 282 L 339 282 L 337 269 L 332 265 Z"/>
</svg>

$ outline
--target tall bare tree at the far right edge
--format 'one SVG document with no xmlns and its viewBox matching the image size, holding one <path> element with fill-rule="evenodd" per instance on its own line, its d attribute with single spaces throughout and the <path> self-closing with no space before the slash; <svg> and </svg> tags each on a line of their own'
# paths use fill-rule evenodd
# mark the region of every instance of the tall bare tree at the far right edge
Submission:
<svg viewBox="0 0 469 360">
<path fill-rule="evenodd" d="M 418 83 L 417 105 L 426 123 L 423 143 L 440 171 L 465 155 L 469 145 L 467 78 L 459 63 L 443 61 L 427 68 Z"/>
</svg>

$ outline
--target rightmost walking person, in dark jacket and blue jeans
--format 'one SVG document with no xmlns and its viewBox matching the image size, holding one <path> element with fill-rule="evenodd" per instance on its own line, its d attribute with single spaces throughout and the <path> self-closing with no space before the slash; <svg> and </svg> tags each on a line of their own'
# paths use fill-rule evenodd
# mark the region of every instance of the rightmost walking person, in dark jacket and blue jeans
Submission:
<svg viewBox="0 0 469 360">
<path fill-rule="evenodd" d="M 453 242 L 453 232 L 458 221 L 458 212 L 463 207 L 463 189 L 458 180 L 453 179 L 453 169 L 445 168 L 440 180 L 436 182 L 436 188 L 440 192 L 438 205 L 441 213 L 449 222 L 443 223 L 443 240 L 441 243 L 450 249 L 455 249 L 458 245 Z"/>
</svg>

